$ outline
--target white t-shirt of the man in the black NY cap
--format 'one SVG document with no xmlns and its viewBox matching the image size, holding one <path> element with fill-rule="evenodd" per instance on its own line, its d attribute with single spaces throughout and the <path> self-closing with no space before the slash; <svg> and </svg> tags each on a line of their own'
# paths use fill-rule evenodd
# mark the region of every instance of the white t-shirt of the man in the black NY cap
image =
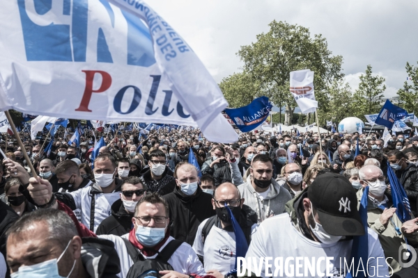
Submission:
<svg viewBox="0 0 418 278">
<path fill-rule="evenodd" d="M 368 261 L 368 266 L 366 266 L 367 262 L 364 263 L 364 268 L 368 267 L 370 277 L 371 275 L 374 275 L 374 277 L 377 277 L 377 275 L 380 275 L 380 277 L 385 275 L 389 276 L 387 263 L 385 262 L 385 254 L 383 253 L 382 246 L 378 240 L 378 235 L 369 228 L 368 232 L 370 259 Z M 300 277 L 323 277 L 326 274 L 326 258 L 334 257 L 333 260 L 330 260 L 330 268 L 328 271 L 334 275 L 333 277 L 345 277 L 344 258 L 346 259 L 347 264 L 350 265 L 352 245 L 353 240 L 341 240 L 333 244 L 324 244 L 309 240 L 293 226 L 288 213 L 281 213 L 280 215 L 276 215 L 261 222 L 251 238 L 251 245 L 249 245 L 245 259 L 246 261 L 249 261 L 250 257 L 272 257 L 272 261 L 268 262 L 272 265 L 268 273 L 272 274 L 274 277 L 295 277 L 298 274 Z M 274 275 L 276 270 L 274 260 L 279 257 L 281 257 L 283 261 L 282 269 L 280 270 L 278 268 L 277 274 Z M 298 262 L 297 258 L 302 258 L 302 261 Z M 324 259 L 320 262 L 319 268 L 317 269 L 319 258 Z M 309 260 L 310 263 L 312 263 L 312 259 L 315 259 L 315 273 L 311 273 L 309 270 L 305 273 L 308 263 L 304 260 Z M 288 260 L 287 268 L 285 264 L 286 260 Z M 278 265 L 280 265 L 279 259 L 277 261 Z M 258 259 L 256 262 L 259 262 Z M 360 269 L 362 269 L 361 266 Z M 355 270 L 357 270 L 357 266 L 355 266 Z M 378 273 L 376 273 L 376 270 L 378 270 Z M 252 272 L 254 272 L 254 267 L 252 268 Z M 318 272 L 322 272 L 323 275 L 318 275 Z M 359 273 L 361 274 L 363 272 Z M 267 277 L 265 275 L 265 261 L 263 261 L 261 267 L 261 277 Z"/>
</svg>

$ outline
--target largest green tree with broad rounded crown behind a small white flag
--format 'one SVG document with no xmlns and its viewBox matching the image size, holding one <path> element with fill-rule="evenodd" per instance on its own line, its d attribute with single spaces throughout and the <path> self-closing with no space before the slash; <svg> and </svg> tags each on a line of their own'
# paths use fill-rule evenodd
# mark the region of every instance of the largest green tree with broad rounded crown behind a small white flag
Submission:
<svg viewBox="0 0 418 278">
<path fill-rule="evenodd" d="M 322 35 L 311 37 L 308 28 L 273 21 L 270 31 L 257 35 L 257 41 L 241 47 L 238 56 L 243 72 L 251 76 L 258 91 L 277 106 L 286 106 L 290 124 L 297 106 L 289 90 L 290 72 L 310 69 L 315 72 L 314 86 L 319 106 L 327 101 L 327 85 L 341 79 L 342 56 L 332 56 Z"/>
</svg>

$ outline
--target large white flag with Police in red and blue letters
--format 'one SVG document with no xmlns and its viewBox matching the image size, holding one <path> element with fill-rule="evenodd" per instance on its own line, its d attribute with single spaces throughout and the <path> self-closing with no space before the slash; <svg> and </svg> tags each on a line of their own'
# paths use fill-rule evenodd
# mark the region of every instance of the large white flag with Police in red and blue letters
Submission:
<svg viewBox="0 0 418 278">
<path fill-rule="evenodd" d="M 215 80 L 144 1 L 3 1 L 0 30 L 1 111 L 199 125 L 208 140 L 238 140 Z"/>
</svg>

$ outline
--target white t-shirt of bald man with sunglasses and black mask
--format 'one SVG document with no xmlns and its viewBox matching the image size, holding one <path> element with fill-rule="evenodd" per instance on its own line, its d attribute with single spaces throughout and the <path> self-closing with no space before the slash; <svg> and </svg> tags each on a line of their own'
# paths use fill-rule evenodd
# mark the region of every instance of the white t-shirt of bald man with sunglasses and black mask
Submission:
<svg viewBox="0 0 418 278">
<path fill-rule="evenodd" d="M 203 220 L 197 228 L 194 238 L 193 250 L 199 256 L 203 256 L 205 271 L 218 270 L 222 275 L 226 275 L 235 267 L 236 244 L 233 231 L 225 231 L 216 227 L 214 224 L 208 235 L 206 235 L 203 246 L 201 237 L 203 227 L 208 219 Z M 252 230 L 255 231 L 257 224 L 254 224 Z"/>
</svg>

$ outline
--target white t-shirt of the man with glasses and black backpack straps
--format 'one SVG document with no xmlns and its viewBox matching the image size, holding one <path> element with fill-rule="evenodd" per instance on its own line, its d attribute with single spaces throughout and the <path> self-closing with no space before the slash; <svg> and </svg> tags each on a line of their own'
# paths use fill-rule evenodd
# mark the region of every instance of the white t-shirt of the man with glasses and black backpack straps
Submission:
<svg viewBox="0 0 418 278">
<path fill-rule="evenodd" d="M 98 238 L 105 238 L 111 240 L 115 244 L 116 252 L 118 252 L 119 259 L 121 260 L 121 272 L 118 274 L 118 277 L 125 278 L 130 267 L 134 264 L 134 261 L 130 258 L 130 255 L 127 253 L 125 242 L 122 238 L 129 238 L 129 234 L 124 234 L 123 236 L 115 235 L 100 235 Z M 163 250 L 167 244 L 173 240 L 172 236 L 162 245 L 159 251 Z M 138 250 L 139 251 L 139 250 Z M 144 256 L 144 254 L 143 254 Z M 144 256 L 145 259 L 155 259 L 157 254 L 154 256 Z M 180 272 L 185 275 L 197 274 L 197 275 L 206 275 L 205 270 L 203 270 L 203 265 L 199 261 L 198 256 L 193 251 L 192 247 L 187 243 L 182 243 L 180 247 L 173 253 L 168 263 L 173 267 L 173 270 Z"/>
</svg>

